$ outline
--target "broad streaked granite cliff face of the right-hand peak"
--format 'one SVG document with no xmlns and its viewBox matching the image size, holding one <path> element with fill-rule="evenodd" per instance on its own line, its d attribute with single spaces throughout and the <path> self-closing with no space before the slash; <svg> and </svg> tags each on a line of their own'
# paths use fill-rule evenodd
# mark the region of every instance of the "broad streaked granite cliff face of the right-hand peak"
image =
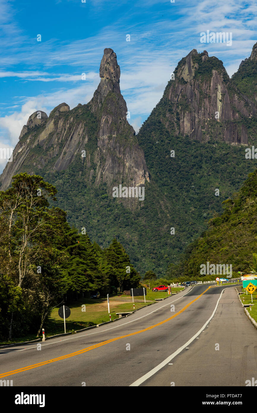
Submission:
<svg viewBox="0 0 257 413">
<path fill-rule="evenodd" d="M 254 46 L 250 61 L 256 60 Z M 242 93 L 222 61 L 196 49 L 184 57 L 165 89 L 162 122 L 175 135 L 248 144 L 248 119 L 257 114 L 256 95 Z M 250 133 L 251 135 L 251 133 Z"/>
</svg>

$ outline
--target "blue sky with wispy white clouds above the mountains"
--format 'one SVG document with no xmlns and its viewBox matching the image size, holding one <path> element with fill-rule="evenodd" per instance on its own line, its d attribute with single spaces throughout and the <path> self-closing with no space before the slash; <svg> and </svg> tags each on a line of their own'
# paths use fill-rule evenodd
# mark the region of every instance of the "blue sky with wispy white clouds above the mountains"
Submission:
<svg viewBox="0 0 257 413">
<path fill-rule="evenodd" d="M 257 42 L 256 0 L 0 0 L 0 9 L 0 147 L 16 145 L 36 110 L 87 103 L 105 47 L 117 54 L 137 132 L 190 50 L 215 55 L 231 76 Z M 232 32 L 232 45 L 200 43 L 207 30 Z"/>
</svg>

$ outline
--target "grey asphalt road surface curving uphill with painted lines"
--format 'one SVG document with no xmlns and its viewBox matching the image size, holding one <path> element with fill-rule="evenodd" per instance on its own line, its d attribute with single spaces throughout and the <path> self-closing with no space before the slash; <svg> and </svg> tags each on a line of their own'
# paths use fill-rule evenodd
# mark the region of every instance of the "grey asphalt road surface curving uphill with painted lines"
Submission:
<svg viewBox="0 0 257 413">
<path fill-rule="evenodd" d="M 174 308 L 172 307 L 174 306 Z M 187 287 L 115 323 L 0 350 L 13 386 L 245 386 L 257 331 L 235 286 Z"/>
</svg>

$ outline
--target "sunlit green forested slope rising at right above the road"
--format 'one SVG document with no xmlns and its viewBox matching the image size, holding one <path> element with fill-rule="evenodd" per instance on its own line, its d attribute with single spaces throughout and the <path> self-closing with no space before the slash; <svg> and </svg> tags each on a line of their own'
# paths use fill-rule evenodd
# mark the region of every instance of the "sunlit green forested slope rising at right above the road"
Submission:
<svg viewBox="0 0 257 413">
<path fill-rule="evenodd" d="M 222 202 L 223 213 L 215 214 L 209 228 L 191 243 L 184 259 L 167 271 L 167 278 L 199 277 L 200 265 L 232 264 L 233 274 L 252 271 L 257 251 L 257 170 L 250 173 L 242 188 Z M 255 255 L 254 255 L 255 256 Z"/>
</svg>

